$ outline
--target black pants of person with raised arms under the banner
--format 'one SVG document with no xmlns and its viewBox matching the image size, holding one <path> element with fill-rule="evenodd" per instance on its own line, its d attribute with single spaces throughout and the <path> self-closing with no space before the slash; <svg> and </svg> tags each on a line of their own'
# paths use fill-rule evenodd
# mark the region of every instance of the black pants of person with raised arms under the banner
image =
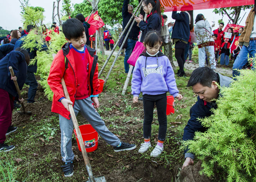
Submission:
<svg viewBox="0 0 256 182">
<path fill-rule="evenodd" d="M 178 66 L 180 67 L 180 71 L 184 71 L 185 64 L 185 48 L 187 44 L 182 41 L 175 42 L 175 58 L 177 59 Z"/>
</svg>

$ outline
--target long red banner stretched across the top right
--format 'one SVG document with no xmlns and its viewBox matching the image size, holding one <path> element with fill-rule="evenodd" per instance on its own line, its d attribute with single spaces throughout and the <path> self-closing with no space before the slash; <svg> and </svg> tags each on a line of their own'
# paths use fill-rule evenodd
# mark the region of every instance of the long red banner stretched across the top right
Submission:
<svg viewBox="0 0 256 182">
<path fill-rule="evenodd" d="M 225 8 L 241 5 L 254 4 L 254 0 L 160 0 L 161 6 L 165 12 L 197 10 L 197 9 L 211 9 L 211 8 Z"/>
</svg>

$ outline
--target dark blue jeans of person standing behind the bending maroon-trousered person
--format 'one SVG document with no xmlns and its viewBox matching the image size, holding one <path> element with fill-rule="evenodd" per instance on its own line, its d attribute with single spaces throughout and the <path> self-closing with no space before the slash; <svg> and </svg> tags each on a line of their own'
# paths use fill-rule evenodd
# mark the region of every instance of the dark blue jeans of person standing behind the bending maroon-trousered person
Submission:
<svg viewBox="0 0 256 182">
<path fill-rule="evenodd" d="M 25 81 L 26 85 L 29 85 L 29 92 L 27 93 L 27 102 L 33 103 L 35 98 L 35 93 L 37 92 L 37 80 L 35 79 L 35 74 L 27 72 L 27 77 Z"/>
</svg>

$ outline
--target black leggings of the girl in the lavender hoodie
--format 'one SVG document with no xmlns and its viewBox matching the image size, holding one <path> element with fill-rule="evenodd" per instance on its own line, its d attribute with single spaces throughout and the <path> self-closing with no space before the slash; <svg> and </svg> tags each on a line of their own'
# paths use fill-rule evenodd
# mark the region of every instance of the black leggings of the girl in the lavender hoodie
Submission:
<svg viewBox="0 0 256 182">
<path fill-rule="evenodd" d="M 166 93 L 158 95 L 143 95 L 144 122 L 143 122 L 143 137 L 148 139 L 151 136 L 151 124 L 153 121 L 154 105 L 157 106 L 157 117 L 159 123 L 158 140 L 164 141 L 167 131 Z"/>
</svg>

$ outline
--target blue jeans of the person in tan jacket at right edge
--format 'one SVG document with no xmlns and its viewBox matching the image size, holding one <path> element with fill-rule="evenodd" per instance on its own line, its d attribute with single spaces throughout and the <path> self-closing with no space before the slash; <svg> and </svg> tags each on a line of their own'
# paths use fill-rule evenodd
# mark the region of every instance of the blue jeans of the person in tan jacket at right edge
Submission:
<svg viewBox="0 0 256 182">
<path fill-rule="evenodd" d="M 256 40 L 250 40 L 249 46 L 242 46 L 240 53 L 237 55 L 237 58 L 233 64 L 233 77 L 240 75 L 240 72 L 235 69 L 241 70 L 246 63 L 248 63 L 248 54 L 249 58 L 255 57 L 256 51 Z"/>
</svg>

